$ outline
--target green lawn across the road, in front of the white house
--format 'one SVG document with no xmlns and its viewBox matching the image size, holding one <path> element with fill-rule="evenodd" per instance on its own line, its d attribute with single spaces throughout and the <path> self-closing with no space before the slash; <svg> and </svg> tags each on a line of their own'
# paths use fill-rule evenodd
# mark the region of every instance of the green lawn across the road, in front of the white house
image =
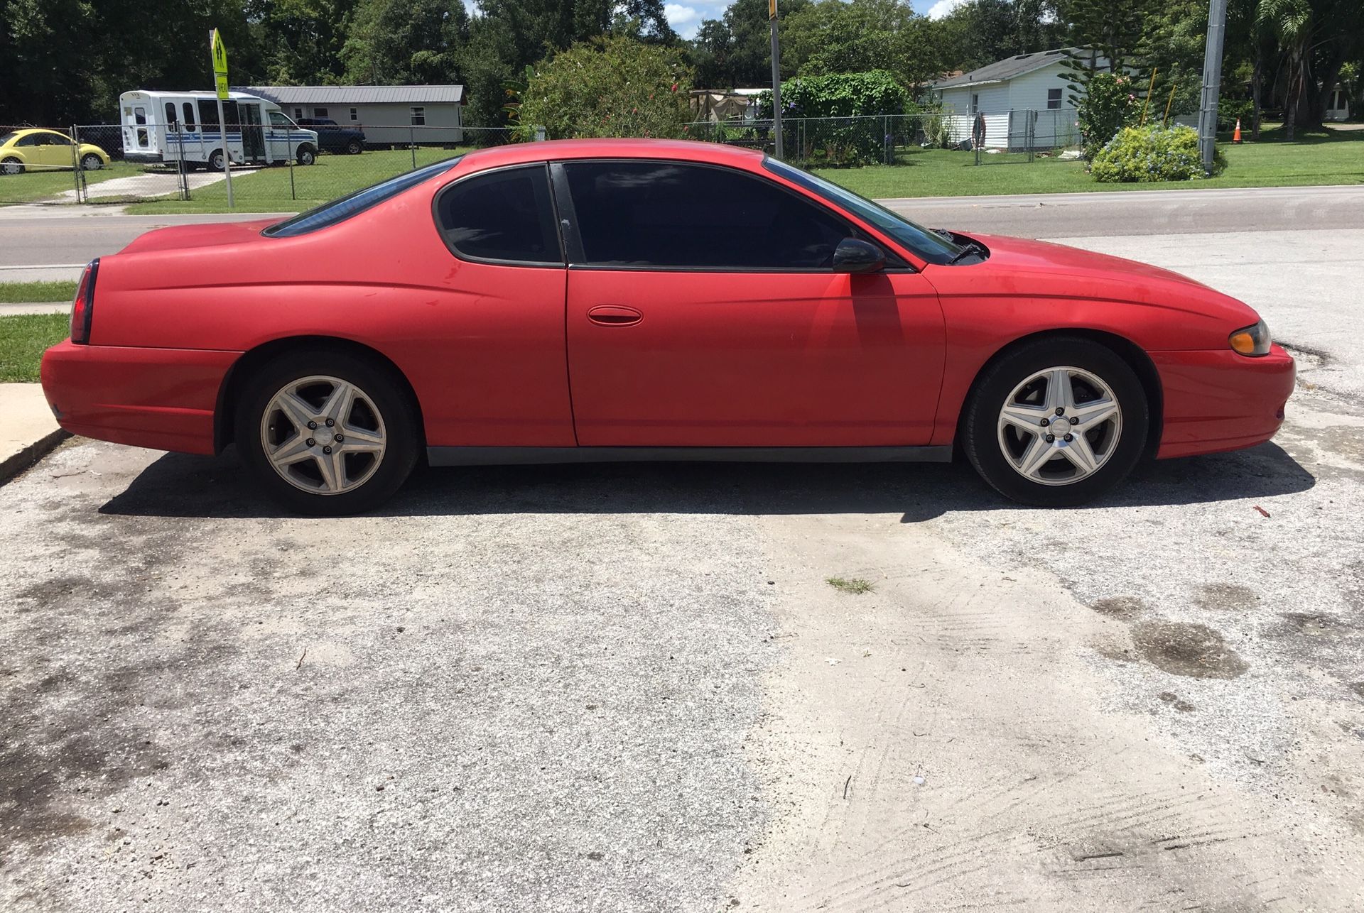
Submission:
<svg viewBox="0 0 1364 913">
<path fill-rule="evenodd" d="M 1027 164 L 1022 155 L 985 155 L 975 165 L 974 153 L 915 149 L 902 154 L 902 165 L 828 168 L 820 174 L 870 198 L 981 196 L 996 194 L 1078 194 L 1083 191 L 1159 191 L 1192 187 L 1304 187 L 1312 184 L 1364 184 L 1364 131 L 1301 132 L 1290 143 L 1282 128 L 1263 131 L 1259 142 L 1233 146 L 1219 139 L 1226 170 L 1196 181 L 1153 184 L 1099 184 L 1083 162 L 1054 157 Z"/>
</svg>

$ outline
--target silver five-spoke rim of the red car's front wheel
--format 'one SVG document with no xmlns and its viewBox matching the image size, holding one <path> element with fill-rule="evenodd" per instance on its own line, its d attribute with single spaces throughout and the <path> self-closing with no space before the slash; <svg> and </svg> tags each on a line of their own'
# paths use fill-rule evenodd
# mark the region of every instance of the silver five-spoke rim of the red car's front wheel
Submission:
<svg viewBox="0 0 1364 913">
<path fill-rule="evenodd" d="M 1038 371 L 1000 407 L 1004 459 L 1023 478 L 1071 485 L 1097 473 L 1117 450 L 1123 409 L 1097 375 L 1058 365 Z"/>
</svg>

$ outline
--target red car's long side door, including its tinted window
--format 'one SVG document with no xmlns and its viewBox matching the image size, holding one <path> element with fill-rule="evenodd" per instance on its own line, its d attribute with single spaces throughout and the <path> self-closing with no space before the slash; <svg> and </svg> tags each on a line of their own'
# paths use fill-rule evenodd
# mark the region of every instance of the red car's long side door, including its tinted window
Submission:
<svg viewBox="0 0 1364 913">
<path fill-rule="evenodd" d="M 937 294 L 896 259 L 835 273 L 833 248 L 858 234 L 843 214 L 701 164 L 570 161 L 554 177 L 578 444 L 929 443 Z"/>
</svg>

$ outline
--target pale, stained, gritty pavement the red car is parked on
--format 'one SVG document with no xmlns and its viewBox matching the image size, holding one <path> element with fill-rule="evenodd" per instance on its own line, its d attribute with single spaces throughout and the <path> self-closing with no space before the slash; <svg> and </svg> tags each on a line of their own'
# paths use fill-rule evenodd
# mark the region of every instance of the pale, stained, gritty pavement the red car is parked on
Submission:
<svg viewBox="0 0 1364 913">
<path fill-rule="evenodd" d="M 0 905 L 1360 909 L 1364 273 L 1305 253 L 1359 240 L 1129 225 L 1068 243 L 1228 267 L 1300 388 L 1087 508 L 645 465 L 314 521 L 67 444 L 0 488 Z"/>
</svg>

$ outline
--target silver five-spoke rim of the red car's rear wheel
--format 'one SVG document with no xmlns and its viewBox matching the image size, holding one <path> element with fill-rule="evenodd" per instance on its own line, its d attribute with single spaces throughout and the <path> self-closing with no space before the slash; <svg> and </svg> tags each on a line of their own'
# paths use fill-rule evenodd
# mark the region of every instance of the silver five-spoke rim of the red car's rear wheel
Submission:
<svg viewBox="0 0 1364 913">
<path fill-rule="evenodd" d="M 289 382 L 261 416 L 261 444 L 274 471 L 314 495 L 364 485 L 383 462 L 387 440 L 368 394 L 326 375 Z"/>
</svg>

